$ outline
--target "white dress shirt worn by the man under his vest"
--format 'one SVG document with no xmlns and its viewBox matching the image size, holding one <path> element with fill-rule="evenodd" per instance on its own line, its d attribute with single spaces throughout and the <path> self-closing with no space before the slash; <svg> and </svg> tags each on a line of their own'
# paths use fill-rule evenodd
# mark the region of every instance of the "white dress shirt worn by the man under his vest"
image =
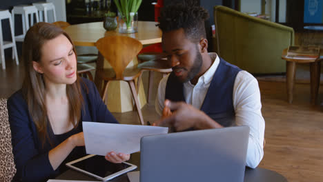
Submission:
<svg viewBox="0 0 323 182">
<path fill-rule="evenodd" d="M 201 76 L 196 85 L 190 81 L 184 83 L 184 98 L 186 103 L 201 109 L 202 103 L 219 65 L 216 53 L 209 53 L 215 59 L 211 67 Z M 169 76 L 169 74 L 168 74 Z M 168 76 L 161 79 L 155 101 L 156 111 L 161 115 L 164 108 L 165 90 Z M 235 122 L 237 125 L 248 125 L 250 128 L 246 165 L 256 168 L 264 156 L 264 128 L 262 117 L 262 103 L 257 79 L 242 70 L 238 72 L 233 86 L 233 107 L 235 108 Z"/>
</svg>

